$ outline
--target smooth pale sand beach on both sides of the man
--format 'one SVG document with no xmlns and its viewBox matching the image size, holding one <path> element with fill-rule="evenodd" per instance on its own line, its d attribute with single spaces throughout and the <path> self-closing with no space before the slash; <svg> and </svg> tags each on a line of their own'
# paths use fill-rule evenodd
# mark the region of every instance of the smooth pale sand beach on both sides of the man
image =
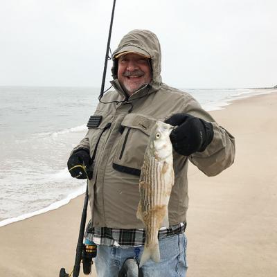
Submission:
<svg viewBox="0 0 277 277">
<path fill-rule="evenodd" d="M 188 277 L 277 275 L 276 110 L 277 93 L 272 93 L 211 111 L 235 136 L 236 157 L 216 177 L 190 164 Z M 56 210 L 0 227 L 0 276 L 71 271 L 83 200 L 81 195 Z"/>
</svg>

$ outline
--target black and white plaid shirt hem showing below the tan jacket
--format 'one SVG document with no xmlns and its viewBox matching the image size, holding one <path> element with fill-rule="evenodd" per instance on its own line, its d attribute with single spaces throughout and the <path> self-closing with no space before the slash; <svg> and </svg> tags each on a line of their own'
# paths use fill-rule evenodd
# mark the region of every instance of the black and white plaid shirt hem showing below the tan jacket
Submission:
<svg viewBox="0 0 277 277">
<path fill-rule="evenodd" d="M 114 229 L 92 227 L 91 225 L 91 221 L 89 221 L 84 238 L 96 244 L 116 247 L 139 247 L 145 243 L 145 229 Z M 186 222 L 170 226 L 168 229 L 163 227 L 159 230 L 158 239 L 184 233 L 185 230 Z"/>
</svg>

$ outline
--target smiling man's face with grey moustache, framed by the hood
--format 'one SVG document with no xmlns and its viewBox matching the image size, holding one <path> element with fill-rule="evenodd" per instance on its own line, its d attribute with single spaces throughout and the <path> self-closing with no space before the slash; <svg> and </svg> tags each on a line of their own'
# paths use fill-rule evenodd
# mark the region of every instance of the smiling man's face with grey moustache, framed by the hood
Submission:
<svg viewBox="0 0 277 277">
<path fill-rule="evenodd" d="M 150 61 L 136 53 L 128 53 L 118 57 L 118 81 L 131 96 L 143 84 L 152 80 Z"/>
</svg>

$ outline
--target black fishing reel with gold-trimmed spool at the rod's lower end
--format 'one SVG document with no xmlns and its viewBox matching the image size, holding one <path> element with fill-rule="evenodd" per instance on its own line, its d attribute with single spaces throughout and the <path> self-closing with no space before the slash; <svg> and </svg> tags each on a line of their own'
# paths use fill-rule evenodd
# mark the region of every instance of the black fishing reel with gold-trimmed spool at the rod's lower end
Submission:
<svg viewBox="0 0 277 277">
<path fill-rule="evenodd" d="M 82 249 L 82 271 L 84 272 L 85 275 L 89 275 L 91 273 L 91 266 L 93 265 L 93 260 L 92 258 L 95 258 L 97 254 L 97 246 L 96 244 L 83 244 L 83 249 Z M 75 268 L 74 268 L 75 269 Z M 74 275 L 74 269 L 71 272 Z M 79 267 L 80 269 L 80 267 Z M 67 274 L 64 268 L 60 269 L 60 275 L 59 277 L 70 277 L 71 274 Z M 79 273 L 78 275 L 79 276 Z"/>
</svg>

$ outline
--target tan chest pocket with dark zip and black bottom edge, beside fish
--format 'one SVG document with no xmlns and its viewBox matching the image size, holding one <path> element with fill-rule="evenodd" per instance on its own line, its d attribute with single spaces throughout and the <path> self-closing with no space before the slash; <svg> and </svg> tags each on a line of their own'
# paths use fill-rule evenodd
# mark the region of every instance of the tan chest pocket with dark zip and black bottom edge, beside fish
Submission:
<svg viewBox="0 0 277 277">
<path fill-rule="evenodd" d="M 113 168 L 140 176 L 145 149 L 156 120 L 141 114 L 128 114 L 121 123 L 121 136 L 116 146 Z"/>
</svg>

